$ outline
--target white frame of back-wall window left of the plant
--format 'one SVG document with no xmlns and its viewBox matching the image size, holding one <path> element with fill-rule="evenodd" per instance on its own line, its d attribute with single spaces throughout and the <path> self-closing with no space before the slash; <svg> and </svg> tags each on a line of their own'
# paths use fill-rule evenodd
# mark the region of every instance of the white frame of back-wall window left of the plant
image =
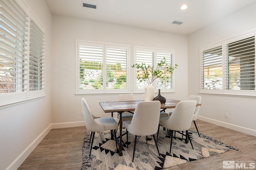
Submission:
<svg viewBox="0 0 256 170">
<path fill-rule="evenodd" d="M 80 45 L 92 45 L 95 47 L 103 48 L 103 77 L 106 76 L 106 48 L 117 48 L 126 49 L 126 89 L 107 89 L 106 86 L 103 86 L 102 89 L 80 89 L 80 56 L 79 56 L 79 46 Z M 114 44 L 98 41 L 86 41 L 82 39 L 76 39 L 76 95 L 85 95 L 85 94 L 120 94 L 120 93 L 129 93 L 130 92 L 130 45 L 123 44 Z M 106 80 L 103 79 L 103 84 L 106 85 Z"/>
</svg>

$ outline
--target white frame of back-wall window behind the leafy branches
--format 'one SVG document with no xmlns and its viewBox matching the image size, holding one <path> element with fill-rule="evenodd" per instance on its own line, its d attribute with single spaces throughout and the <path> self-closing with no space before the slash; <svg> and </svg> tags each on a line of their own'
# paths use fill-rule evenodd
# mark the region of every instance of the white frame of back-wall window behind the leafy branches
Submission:
<svg viewBox="0 0 256 170">
<path fill-rule="evenodd" d="M 168 54 L 171 54 L 172 55 L 172 61 L 171 61 L 171 64 L 172 64 L 172 67 L 175 67 L 175 55 L 174 55 L 174 50 L 170 50 L 170 49 L 157 49 L 157 48 L 152 48 L 152 47 L 141 47 L 141 46 L 134 46 L 134 64 L 136 64 L 136 51 L 145 51 L 145 52 L 153 52 L 154 53 L 154 68 L 156 68 L 157 66 L 157 60 L 156 60 L 156 54 L 157 53 L 168 53 Z M 174 71 L 175 72 L 175 71 Z M 161 93 L 174 93 L 175 92 L 175 75 L 174 75 L 174 72 L 172 73 L 172 76 L 171 76 L 171 82 L 172 82 L 172 88 L 168 88 L 168 89 L 164 89 L 164 88 L 161 88 Z M 134 93 L 144 93 L 145 92 L 145 89 L 137 89 L 137 71 L 136 71 L 136 68 L 133 69 L 133 77 L 134 77 Z M 153 84 L 154 86 L 154 90 L 155 90 L 155 93 L 158 92 L 158 88 L 157 88 L 157 85 L 156 83 Z"/>
</svg>

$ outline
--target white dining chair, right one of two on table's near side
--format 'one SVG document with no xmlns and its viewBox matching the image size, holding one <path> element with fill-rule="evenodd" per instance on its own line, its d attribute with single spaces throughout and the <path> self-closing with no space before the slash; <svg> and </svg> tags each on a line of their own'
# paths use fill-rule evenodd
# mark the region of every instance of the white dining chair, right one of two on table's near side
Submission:
<svg viewBox="0 0 256 170">
<path fill-rule="evenodd" d="M 168 131 L 170 131 L 170 136 L 171 136 L 170 154 L 172 150 L 173 131 L 186 131 L 186 136 L 190 141 L 192 149 L 194 149 L 190 136 L 188 134 L 188 129 L 191 126 L 195 109 L 196 109 L 196 100 L 180 101 L 170 116 L 160 117 L 158 132 L 157 132 L 157 139 L 158 139 L 160 125 L 168 129 Z"/>
</svg>

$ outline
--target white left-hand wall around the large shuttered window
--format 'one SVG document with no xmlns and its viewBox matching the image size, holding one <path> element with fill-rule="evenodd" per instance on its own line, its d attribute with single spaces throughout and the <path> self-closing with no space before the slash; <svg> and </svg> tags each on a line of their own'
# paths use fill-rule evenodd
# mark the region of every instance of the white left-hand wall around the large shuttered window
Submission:
<svg viewBox="0 0 256 170">
<path fill-rule="evenodd" d="M 45 26 L 46 97 L 0 109 L 0 170 L 16 170 L 50 130 L 52 16 L 44 0 L 24 1 Z"/>
</svg>

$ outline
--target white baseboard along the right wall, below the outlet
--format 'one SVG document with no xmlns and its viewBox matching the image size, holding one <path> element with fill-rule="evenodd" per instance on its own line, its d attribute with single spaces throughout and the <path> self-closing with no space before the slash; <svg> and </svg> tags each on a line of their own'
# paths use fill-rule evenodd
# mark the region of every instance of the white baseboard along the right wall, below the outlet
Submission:
<svg viewBox="0 0 256 170">
<path fill-rule="evenodd" d="M 215 124 L 215 125 L 226 127 L 228 129 L 232 129 L 232 130 L 235 130 L 235 131 L 246 133 L 248 135 L 256 136 L 256 130 L 254 130 L 254 129 L 249 129 L 249 128 L 238 126 L 238 125 L 233 125 L 233 124 L 230 124 L 230 123 L 226 123 L 226 122 L 223 122 L 223 121 L 218 121 L 218 120 L 210 119 L 208 117 L 203 117 L 203 116 L 199 116 L 199 115 L 198 115 L 198 119 L 202 120 L 202 121 L 206 121 L 206 122 L 212 123 L 212 124 Z"/>
</svg>

